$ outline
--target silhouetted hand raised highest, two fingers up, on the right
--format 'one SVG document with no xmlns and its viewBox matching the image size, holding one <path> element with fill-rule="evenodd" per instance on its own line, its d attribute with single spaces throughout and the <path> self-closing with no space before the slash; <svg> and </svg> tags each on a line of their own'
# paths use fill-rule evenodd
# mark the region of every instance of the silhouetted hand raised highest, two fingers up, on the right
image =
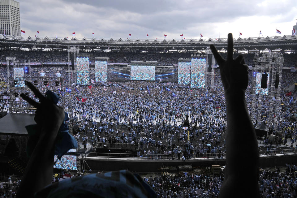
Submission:
<svg viewBox="0 0 297 198">
<path fill-rule="evenodd" d="M 227 60 L 222 58 L 213 45 L 210 45 L 210 49 L 220 67 L 221 79 L 225 93 L 233 91 L 237 92 L 239 90 L 243 90 L 245 92 L 248 87 L 248 66 L 245 64 L 242 55 L 233 59 L 232 34 L 228 34 Z"/>
</svg>

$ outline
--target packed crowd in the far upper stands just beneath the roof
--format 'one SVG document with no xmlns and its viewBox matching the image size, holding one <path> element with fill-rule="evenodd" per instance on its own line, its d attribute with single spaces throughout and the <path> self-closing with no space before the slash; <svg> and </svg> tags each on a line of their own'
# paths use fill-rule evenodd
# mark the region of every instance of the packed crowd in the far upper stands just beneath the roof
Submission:
<svg viewBox="0 0 297 198">
<path fill-rule="evenodd" d="M 109 62 L 112 63 L 127 63 L 130 64 L 131 61 L 157 61 L 158 65 L 161 66 L 172 66 L 178 64 L 179 58 L 191 58 L 190 53 L 160 53 L 160 52 L 93 52 L 85 53 L 93 55 L 93 57 L 109 57 Z M 236 57 L 238 54 L 235 53 Z M 253 64 L 253 59 L 255 54 L 241 54 L 245 62 L 251 66 Z M 29 59 L 31 62 L 68 62 L 67 51 L 23 51 L 23 50 L 0 50 L 0 62 L 6 62 L 6 56 L 16 56 L 17 60 L 23 61 Z M 226 53 L 222 53 L 223 58 L 225 58 Z M 261 54 L 259 54 L 261 56 Z M 296 67 L 297 64 L 296 54 L 284 54 L 283 67 Z"/>
</svg>

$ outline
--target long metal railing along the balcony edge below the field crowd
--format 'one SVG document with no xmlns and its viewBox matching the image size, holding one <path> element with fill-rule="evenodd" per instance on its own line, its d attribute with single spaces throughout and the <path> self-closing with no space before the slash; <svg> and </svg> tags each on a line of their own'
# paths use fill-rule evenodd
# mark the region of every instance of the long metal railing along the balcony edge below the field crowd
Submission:
<svg viewBox="0 0 297 198">
<path fill-rule="evenodd" d="M 265 156 L 275 156 L 275 155 L 289 155 L 289 154 L 297 154 L 297 152 L 292 151 L 294 149 L 282 149 L 282 150 L 273 150 L 273 151 L 259 151 L 260 157 Z M 219 153 L 197 153 L 190 154 L 189 157 L 186 157 L 186 160 L 195 160 L 195 159 L 217 159 Z M 222 153 L 220 153 L 222 154 Z M 180 155 L 180 159 L 182 160 L 182 156 Z M 137 153 L 89 153 L 88 157 L 92 158 L 108 158 L 108 159 L 145 159 L 145 160 L 168 160 L 169 154 L 139 154 Z M 171 156 L 170 156 L 171 157 Z M 174 159 L 177 159 L 178 155 L 174 156 Z M 226 153 L 224 153 L 223 159 L 226 158 Z"/>
</svg>

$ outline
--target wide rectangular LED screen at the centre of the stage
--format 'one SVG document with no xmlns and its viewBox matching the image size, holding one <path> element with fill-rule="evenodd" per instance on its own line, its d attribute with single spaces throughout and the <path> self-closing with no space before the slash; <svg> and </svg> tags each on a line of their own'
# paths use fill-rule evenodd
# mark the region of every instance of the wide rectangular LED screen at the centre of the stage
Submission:
<svg viewBox="0 0 297 198">
<path fill-rule="evenodd" d="M 131 65 L 131 80 L 155 80 L 155 66 Z"/>
</svg>

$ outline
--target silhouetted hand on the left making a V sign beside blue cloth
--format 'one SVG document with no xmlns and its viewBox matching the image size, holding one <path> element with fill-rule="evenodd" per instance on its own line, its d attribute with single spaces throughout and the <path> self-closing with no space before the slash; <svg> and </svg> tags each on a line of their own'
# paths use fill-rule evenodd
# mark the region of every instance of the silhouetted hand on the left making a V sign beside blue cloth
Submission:
<svg viewBox="0 0 297 198">
<path fill-rule="evenodd" d="M 20 96 L 30 105 L 37 108 L 34 118 L 37 126 L 40 129 L 52 129 L 53 127 L 59 129 L 65 118 L 64 109 L 43 96 L 32 83 L 27 82 L 27 85 L 33 91 L 35 97 L 39 98 L 39 102 L 36 102 L 24 93 L 21 93 Z M 58 130 L 55 131 L 56 134 L 53 135 L 57 136 Z"/>
</svg>

